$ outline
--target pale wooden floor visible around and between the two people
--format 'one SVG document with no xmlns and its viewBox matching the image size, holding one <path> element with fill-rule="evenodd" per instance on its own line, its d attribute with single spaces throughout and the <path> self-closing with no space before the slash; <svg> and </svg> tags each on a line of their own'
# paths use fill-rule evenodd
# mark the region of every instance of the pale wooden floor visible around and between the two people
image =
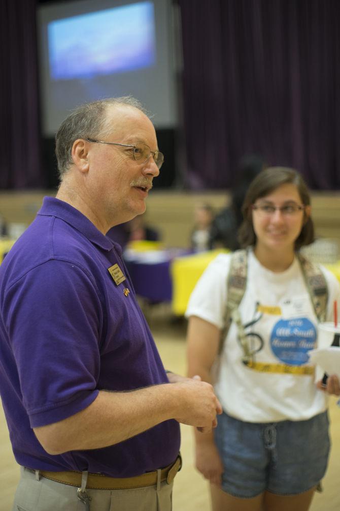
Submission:
<svg viewBox="0 0 340 511">
<path fill-rule="evenodd" d="M 152 318 L 152 314 L 149 320 L 165 367 L 185 374 L 184 324 L 167 323 L 164 325 L 158 317 Z M 333 448 L 328 472 L 323 481 L 324 492 L 315 496 L 310 511 L 339 511 L 340 509 L 340 408 L 336 406 L 335 398 L 331 398 L 330 417 Z M 181 453 L 184 458 L 184 466 L 175 479 L 173 511 L 209 511 L 208 486 L 194 469 L 191 428 L 182 426 L 181 432 Z M 0 511 L 10 511 L 19 471 L 10 447 L 8 430 L 1 406 L 0 459 L 2 467 L 0 471 Z"/>
</svg>

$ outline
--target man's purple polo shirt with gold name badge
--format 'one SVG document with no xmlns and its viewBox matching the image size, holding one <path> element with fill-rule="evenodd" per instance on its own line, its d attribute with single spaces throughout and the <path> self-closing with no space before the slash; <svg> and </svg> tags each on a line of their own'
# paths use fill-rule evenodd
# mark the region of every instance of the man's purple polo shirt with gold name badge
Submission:
<svg viewBox="0 0 340 511">
<path fill-rule="evenodd" d="M 126 276 L 118 285 L 108 271 L 115 264 Z M 69 204 L 45 198 L 0 266 L 0 392 L 15 459 L 113 477 L 167 466 L 179 450 L 174 420 L 111 447 L 57 456 L 32 430 L 83 410 L 100 389 L 167 381 L 119 245 Z"/>
</svg>

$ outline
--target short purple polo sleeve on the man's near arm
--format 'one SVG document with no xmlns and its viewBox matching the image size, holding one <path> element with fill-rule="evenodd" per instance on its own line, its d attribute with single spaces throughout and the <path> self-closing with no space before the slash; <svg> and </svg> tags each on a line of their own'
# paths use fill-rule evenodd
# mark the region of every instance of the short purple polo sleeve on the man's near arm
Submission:
<svg viewBox="0 0 340 511">
<path fill-rule="evenodd" d="M 83 269 L 48 261 L 7 290 L 4 318 L 31 427 L 61 421 L 97 397 L 102 307 Z"/>
</svg>

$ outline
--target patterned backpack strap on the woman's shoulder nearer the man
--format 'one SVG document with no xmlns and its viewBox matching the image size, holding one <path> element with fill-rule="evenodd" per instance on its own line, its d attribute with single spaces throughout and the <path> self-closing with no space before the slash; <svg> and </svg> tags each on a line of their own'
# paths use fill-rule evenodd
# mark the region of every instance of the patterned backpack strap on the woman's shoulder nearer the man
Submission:
<svg viewBox="0 0 340 511">
<path fill-rule="evenodd" d="M 236 250 L 231 254 L 230 268 L 227 277 L 227 306 L 224 316 L 224 329 L 221 332 L 219 354 L 223 350 L 224 340 L 232 321 L 232 313 L 238 309 L 247 285 L 248 251 Z"/>
</svg>

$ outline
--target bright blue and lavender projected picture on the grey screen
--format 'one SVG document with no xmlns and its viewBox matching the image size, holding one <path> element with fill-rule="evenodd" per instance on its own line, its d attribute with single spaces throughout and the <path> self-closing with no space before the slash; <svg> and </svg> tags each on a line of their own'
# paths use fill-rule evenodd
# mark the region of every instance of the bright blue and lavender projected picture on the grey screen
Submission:
<svg viewBox="0 0 340 511">
<path fill-rule="evenodd" d="M 51 21 L 50 79 L 73 80 L 154 65 L 152 2 L 141 2 Z"/>
</svg>

